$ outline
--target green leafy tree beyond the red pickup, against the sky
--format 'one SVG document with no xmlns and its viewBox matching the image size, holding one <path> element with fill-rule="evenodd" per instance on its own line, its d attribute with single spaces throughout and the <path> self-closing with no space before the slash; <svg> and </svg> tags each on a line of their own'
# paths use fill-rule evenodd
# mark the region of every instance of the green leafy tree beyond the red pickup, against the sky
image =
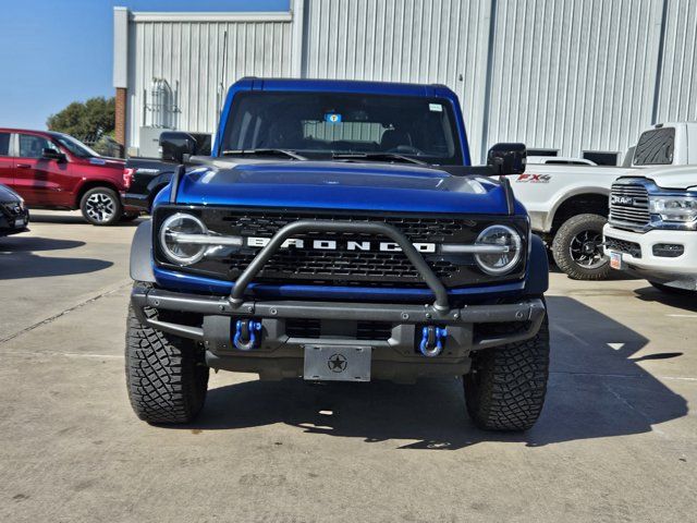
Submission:
<svg viewBox="0 0 697 523">
<path fill-rule="evenodd" d="M 49 131 L 87 138 L 97 134 L 111 134 L 114 129 L 115 100 L 103 96 L 85 102 L 73 101 L 46 121 Z"/>
</svg>

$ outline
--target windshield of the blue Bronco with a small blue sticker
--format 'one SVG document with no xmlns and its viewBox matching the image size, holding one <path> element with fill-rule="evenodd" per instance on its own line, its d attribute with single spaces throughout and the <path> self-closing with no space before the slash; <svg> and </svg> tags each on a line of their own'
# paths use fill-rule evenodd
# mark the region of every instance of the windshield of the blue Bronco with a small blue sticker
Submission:
<svg viewBox="0 0 697 523">
<path fill-rule="evenodd" d="M 313 159 L 390 153 L 462 165 L 449 100 L 344 93 L 242 93 L 221 150 L 288 149 Z M 389 160 L 382 160 L 389 161 Z"/>
</svg>

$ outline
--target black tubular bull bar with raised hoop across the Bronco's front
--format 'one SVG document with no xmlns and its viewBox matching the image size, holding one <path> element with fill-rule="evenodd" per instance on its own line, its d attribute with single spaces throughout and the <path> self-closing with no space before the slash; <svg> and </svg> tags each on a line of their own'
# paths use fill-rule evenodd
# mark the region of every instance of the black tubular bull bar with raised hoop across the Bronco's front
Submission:
<svg viewBox="0 0 697 523">
<path fill-rule="evenodd" d="M 341 303 L 320 301 L 257 301 L 245 300 L 245 291 L 264 266 L 281 248 L 283 243 L 297 234 L 306 232 L 356 232 L 380 234 L 394 241 L 419 272 L 435 295 L 429 305 L 415 304 L 378 304 L 378 303 Z M 179 311 L 203 316 L 229 316 L 237 318 L 316 318 L 344 320 L 377 320 L 394 324 L 494 324 L 528 323 L 525 329 L 515 333 L 487 336 L 473 340 L 473 350 L 497 346 L 504 343 L 522 341 L 534 337 L 546 315 L 546 306 L 541 299 L 523 299 L 517 303 L 496 305 L 465 305 L 451 308 L 448 292 L 426 263 L 421 254 L 411 241 L 395 227 L 388 223 L 366 223 L 328 220 L 301 220 L 280 229 L 262 247 L 247 268 L 237 278 L 230 296 L 205 296 L 181 292 L 154 289 L 149 285 L 136 284 L 132 292 L 132 302 L 144 325 L 155 329 L 185 338 L 204 341 L 204 329 L 195 326 L 162 321 L 145 314 L 144 308 Z"/>
</svg>

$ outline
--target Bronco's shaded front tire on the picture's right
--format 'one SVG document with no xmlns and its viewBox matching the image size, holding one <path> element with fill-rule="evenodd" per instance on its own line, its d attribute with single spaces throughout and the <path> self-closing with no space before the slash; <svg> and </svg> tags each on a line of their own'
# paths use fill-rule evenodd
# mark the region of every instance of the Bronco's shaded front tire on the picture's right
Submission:
<svg viewBox="0 0 697 523">
<path fill-rule="evenodd" d="M 527 430 L 542 412 L 548 377 L 546 317 L 535 338 L 473 356 L 463 379 L 469 417 L 486 430 Z"/>
</svg>

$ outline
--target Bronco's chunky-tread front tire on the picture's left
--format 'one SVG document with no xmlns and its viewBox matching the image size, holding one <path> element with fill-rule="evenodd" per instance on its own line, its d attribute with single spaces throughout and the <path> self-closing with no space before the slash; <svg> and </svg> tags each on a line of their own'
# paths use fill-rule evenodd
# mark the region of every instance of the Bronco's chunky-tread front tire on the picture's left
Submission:
<svg viewBox="0 0 697 523">
<path fill-rule="evenodd" d="M 155 316 L 154 311 L 146 311 Z M 126 387 L 136 415 L 152 424 L 188 423 L 206 401 L 208 367 L 196 343 L 146 327 L 129 306 Z"/>
</svg>

